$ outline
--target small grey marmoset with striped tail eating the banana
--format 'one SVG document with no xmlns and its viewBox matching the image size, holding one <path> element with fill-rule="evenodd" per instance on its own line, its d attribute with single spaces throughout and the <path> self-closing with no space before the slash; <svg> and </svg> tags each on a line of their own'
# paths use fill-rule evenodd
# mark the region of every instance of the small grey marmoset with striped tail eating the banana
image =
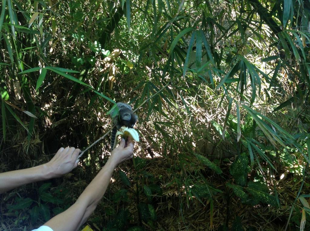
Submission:
<svg viewBox="0 0 310 231">
<path fill-rule="evenodd" d="M 118 110 L 118 113 L 115 114 L 114 110 L 110 113 L 112 118 L 112 126 L 114 126 L 111 133 L 111 151 L 113 150 L 117 130 L 122 126 L 133 128 L 138 118 L 132 112 L 130 105 L 122 102 L 118 102 L 116 105 L 117 108 L 114 110 Z"/>
</svg>

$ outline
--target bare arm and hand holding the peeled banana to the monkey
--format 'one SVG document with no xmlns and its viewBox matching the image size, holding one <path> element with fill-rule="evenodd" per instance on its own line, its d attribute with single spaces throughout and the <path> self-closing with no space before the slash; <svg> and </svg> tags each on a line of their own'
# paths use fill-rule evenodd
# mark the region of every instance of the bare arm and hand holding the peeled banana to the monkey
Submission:
<svg viewBox="0 0 310 231">
<path fill-rule="evenodd" d="M 77 201 L 66 211 L 54 216 L 44 225 L 54 231 L 74 231 L 84 224 L 103 197 L 115 167 L 132 158 L 133 148 L 133 140 L 130 137 L 128 137 L 127 143 L 122 139 L 120 145 L 112 151 L 107 163 L 82 192 Z"/>
</svg>

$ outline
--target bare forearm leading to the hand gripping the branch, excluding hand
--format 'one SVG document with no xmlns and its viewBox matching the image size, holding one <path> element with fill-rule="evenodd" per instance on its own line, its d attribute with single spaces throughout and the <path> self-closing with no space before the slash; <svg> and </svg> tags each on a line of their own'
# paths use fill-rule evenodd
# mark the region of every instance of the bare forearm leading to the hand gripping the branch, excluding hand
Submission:
<svg viewBox="0 0 310 231">
<path fill-rule="evenodd" d="M 0 173 L 0 194 L 24 184 L 47 180 L 53 177 L 47 165 Z"/>
</svg>

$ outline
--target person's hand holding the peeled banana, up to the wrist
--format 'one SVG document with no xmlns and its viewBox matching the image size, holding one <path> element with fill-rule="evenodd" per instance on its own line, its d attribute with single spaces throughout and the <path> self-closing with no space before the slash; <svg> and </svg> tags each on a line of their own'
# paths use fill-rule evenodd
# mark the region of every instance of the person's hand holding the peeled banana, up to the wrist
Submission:
<svg viewBox="0 0 310 231">
<path fill-rule="evenodd" d="M 120 163 L 132 158 L 134 152 L 134 142 L 130 136 L 128 136 L 127 142 L 122 139 L 117 148 L 114 148 L 111 152 L 109 160 L 112 160 L 114 165 L 117 166 Z"/>
</svg>

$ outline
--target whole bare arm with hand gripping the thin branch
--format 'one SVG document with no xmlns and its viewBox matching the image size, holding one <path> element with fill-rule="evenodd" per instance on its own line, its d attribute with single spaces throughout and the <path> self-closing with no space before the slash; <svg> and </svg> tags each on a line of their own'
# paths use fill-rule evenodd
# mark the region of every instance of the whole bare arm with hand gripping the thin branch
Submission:
<svg viewBox="0 0 310 231">
<path fill-rule="evenodd" d="M 60 177 L 69 173 L 78 165 L 77 158 L 80 151 L 73 147 L 60 148 L 46 164 L 0 173 L 0 194 L 24 184 Z"/>
</svg>

